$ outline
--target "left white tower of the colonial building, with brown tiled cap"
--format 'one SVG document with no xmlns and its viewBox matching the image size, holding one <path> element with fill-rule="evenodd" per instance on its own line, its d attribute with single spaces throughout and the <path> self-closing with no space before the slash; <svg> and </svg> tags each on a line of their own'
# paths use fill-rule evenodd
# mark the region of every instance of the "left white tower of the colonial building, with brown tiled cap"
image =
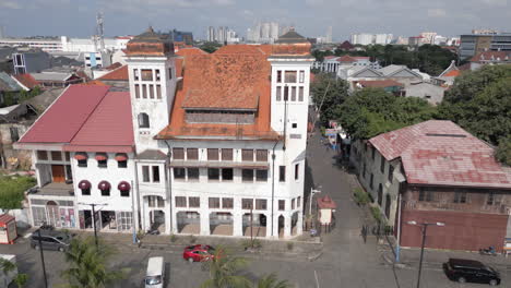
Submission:
<svg viewBox="0 0 511 288">
<path fill-rule="evenodd" d="M 128 45 L 126 61 L 136 152 L 157 148 L 153 136 L 168 123 L 176 93 L 174 44 L 150 27 Z"/>
</svg>

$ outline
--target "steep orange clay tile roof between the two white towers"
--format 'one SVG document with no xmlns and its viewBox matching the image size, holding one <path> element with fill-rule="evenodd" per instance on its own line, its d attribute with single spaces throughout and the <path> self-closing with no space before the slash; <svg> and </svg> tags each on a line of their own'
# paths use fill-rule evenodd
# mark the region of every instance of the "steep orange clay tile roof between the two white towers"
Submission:
<svg viewBox="0 0 511 288">
<path fill-rule="evenodd" d="M 248 51 L 243 52 L 242 49 Z M 212 55 L 188 55 L 183 58 L 183 80 L 179 82 L 170 124 L 157 139 L 178 137 L 254 137 L 278 139 L 270 127 L 271 47 L 228 45 Z M 236 85 L 235 85 L 236 84 Z M 250 93 L 241 93 L 249 91 Z M 254 108 L 253 124 L 210 124 L 185 121 L 183 107 L 223 109 Z"/>
</svg>

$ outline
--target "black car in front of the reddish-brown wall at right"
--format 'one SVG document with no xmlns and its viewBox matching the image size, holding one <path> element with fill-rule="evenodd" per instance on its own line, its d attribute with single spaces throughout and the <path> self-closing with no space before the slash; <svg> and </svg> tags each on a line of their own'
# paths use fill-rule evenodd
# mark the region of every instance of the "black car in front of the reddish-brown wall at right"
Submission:
<svg viewBox="0 0 511 288">
<path fill-rule="evenodd" d="M 475 260 L 449 259 L 443 263 L 449 279 L 459 283 L 484 283 L 491 286 L 500 284 L 500 275 L 494 268 Z"/>
</svg>

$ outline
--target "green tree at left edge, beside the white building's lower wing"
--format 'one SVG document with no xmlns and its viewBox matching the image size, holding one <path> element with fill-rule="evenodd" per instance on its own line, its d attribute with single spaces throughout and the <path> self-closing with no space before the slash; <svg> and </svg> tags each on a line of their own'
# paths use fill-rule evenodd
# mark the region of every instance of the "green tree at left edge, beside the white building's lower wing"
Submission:
<svg viewBox="0 0 511 288">
<path fill-rule="evenodd" d="M 0 178 L 0 208 L 19 209 L 25 199 L 25 191 L 33 188 L 36 180 L 28 176 Z"/>
</svg>

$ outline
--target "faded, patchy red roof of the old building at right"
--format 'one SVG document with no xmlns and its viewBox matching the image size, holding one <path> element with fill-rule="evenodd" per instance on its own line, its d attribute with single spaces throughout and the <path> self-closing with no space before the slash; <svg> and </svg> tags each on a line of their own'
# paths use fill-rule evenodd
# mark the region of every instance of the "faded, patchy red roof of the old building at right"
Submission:
<svg viewBox="0 0 511 288">
<path fill-rule="evenodd" d="M 494 148 L 451 121 L 429 120 L 369 140 L 385 159 L 401 157 L 408 183 L 511 189 Z"/>
</svg>

